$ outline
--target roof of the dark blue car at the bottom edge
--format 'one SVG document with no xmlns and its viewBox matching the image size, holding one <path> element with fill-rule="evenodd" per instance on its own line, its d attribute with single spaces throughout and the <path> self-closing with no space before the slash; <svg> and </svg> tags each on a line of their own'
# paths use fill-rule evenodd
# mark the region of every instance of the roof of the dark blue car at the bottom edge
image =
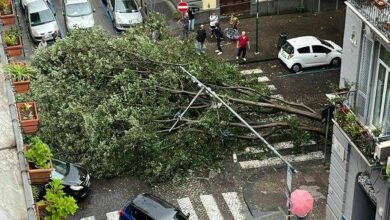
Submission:
<svg viewBox="0 0 390 220">
<path fill-rule="evenodd" d="M 178 211 L 172 204 L 149 193 L 138 195 L 131 204 L 149 217 L 159 220 L 170 220 Z"/>
</svg>

